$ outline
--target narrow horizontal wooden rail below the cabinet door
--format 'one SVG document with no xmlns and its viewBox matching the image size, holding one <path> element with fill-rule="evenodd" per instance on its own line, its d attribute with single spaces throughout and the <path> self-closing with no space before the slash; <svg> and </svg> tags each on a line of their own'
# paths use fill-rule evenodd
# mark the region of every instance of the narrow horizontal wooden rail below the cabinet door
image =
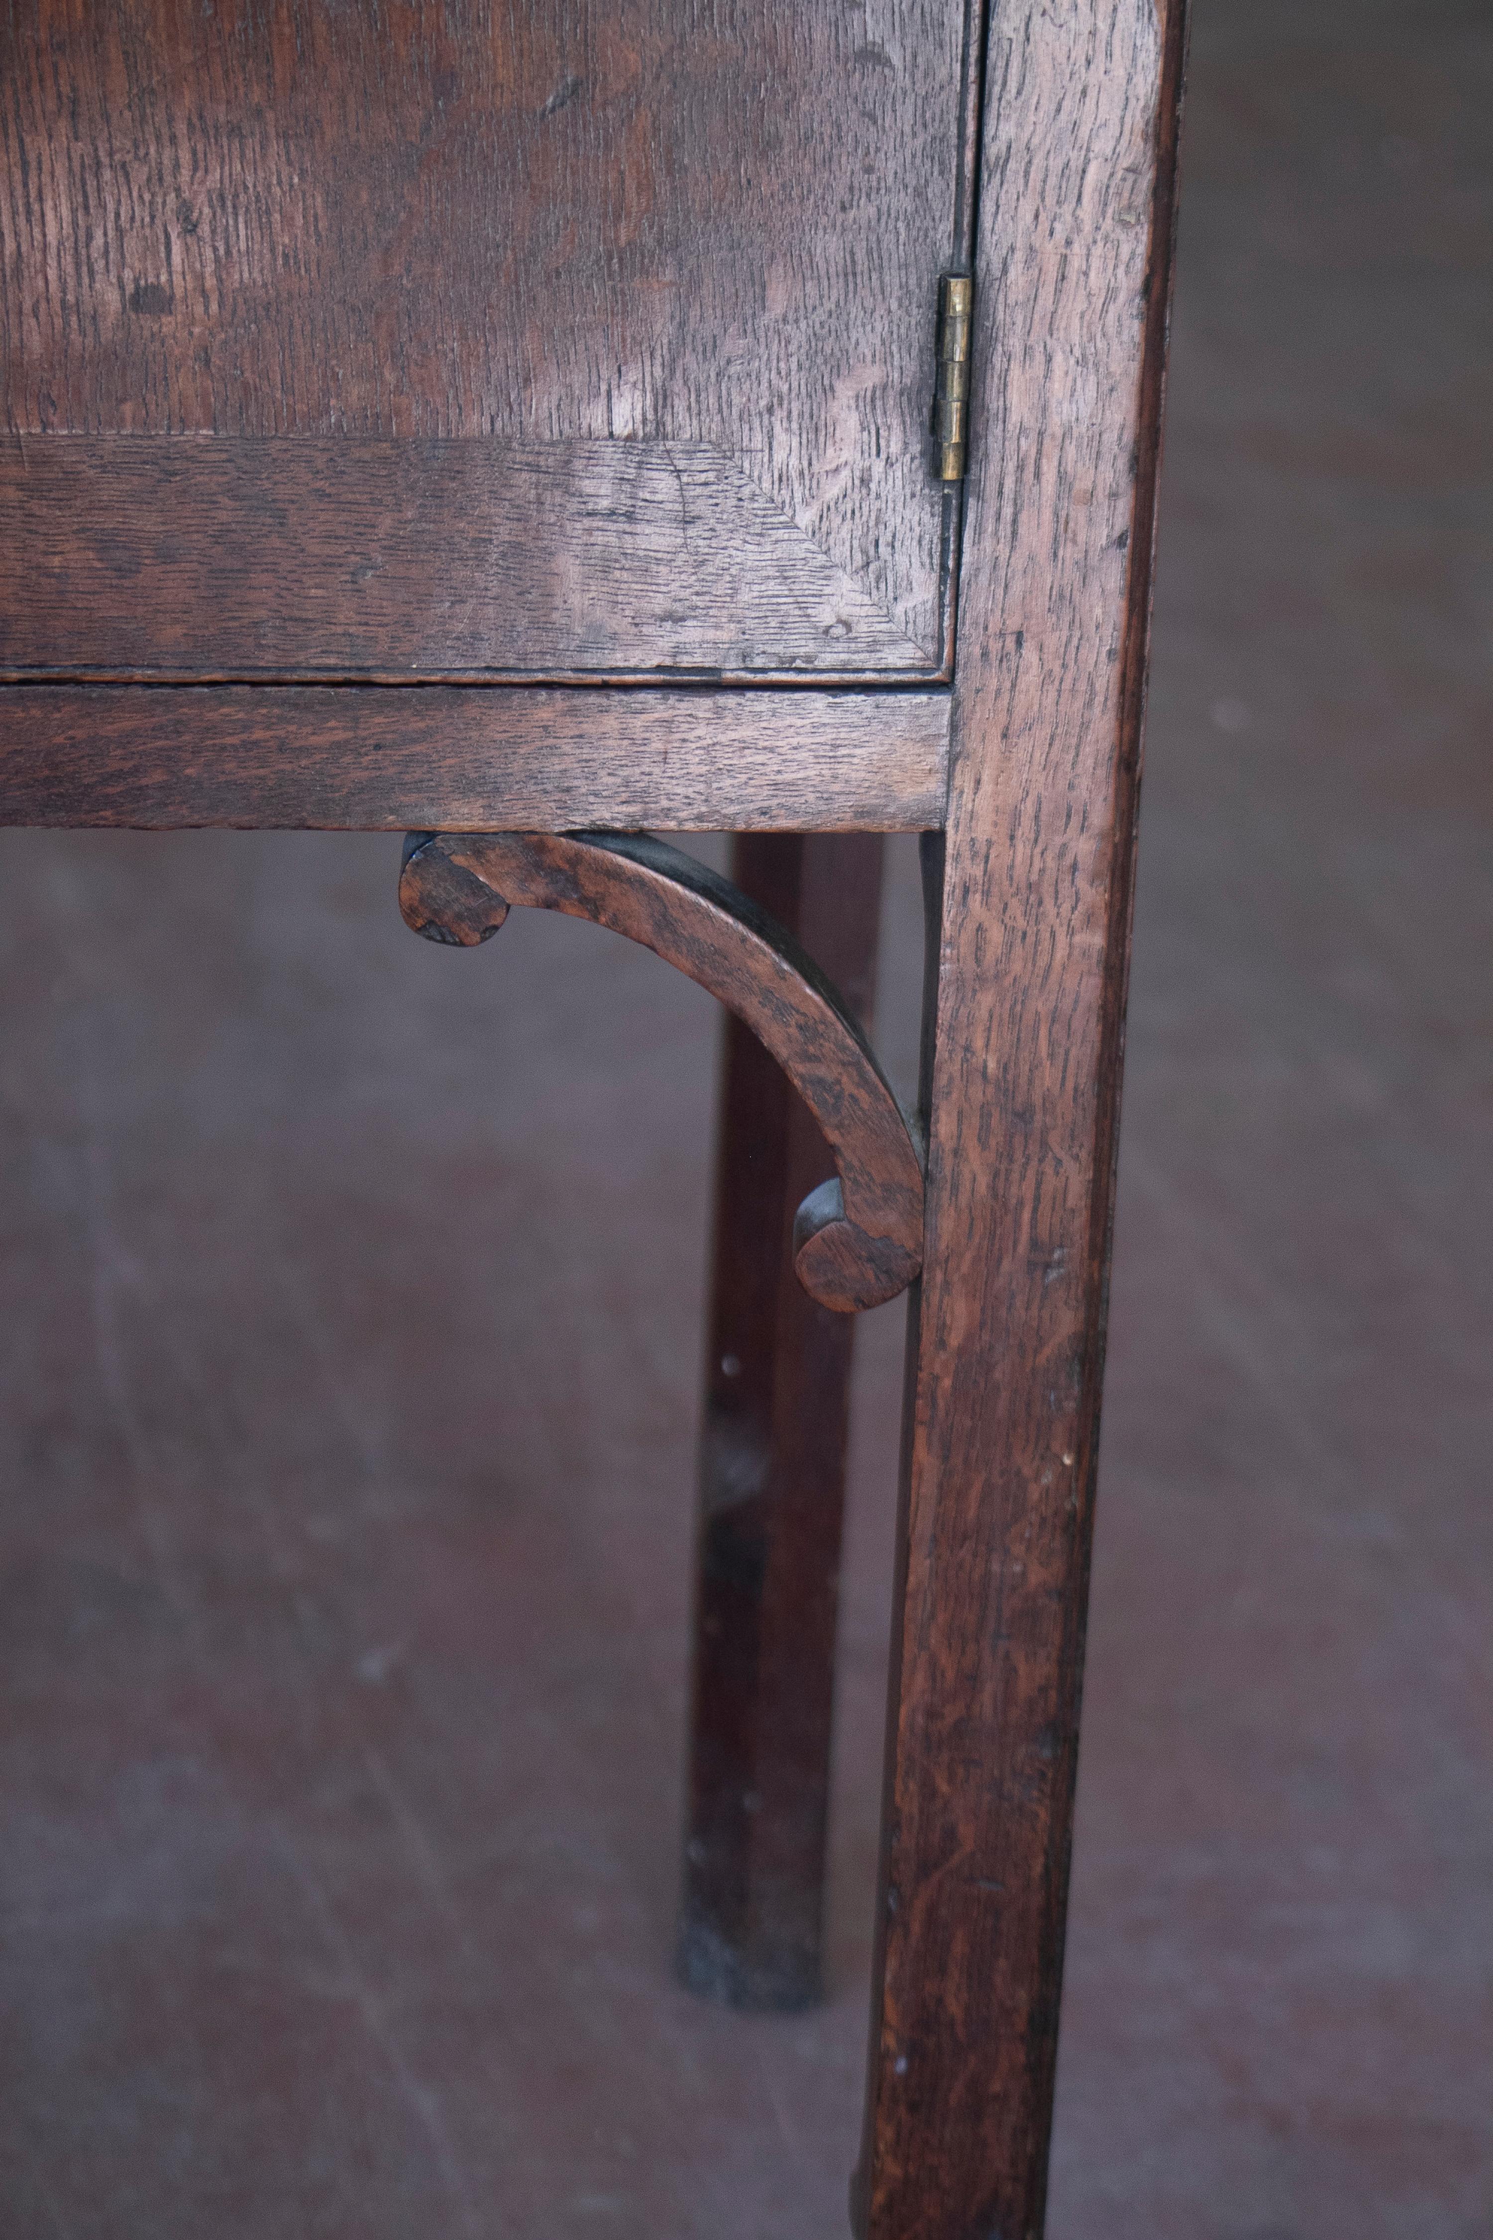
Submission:
<svg viewBox="0 0 1493 2240">
<path fill-rule="evenodd" d="M 0 685 L 0 824 L 942 824 L 947 692 Z"/>
</svg>

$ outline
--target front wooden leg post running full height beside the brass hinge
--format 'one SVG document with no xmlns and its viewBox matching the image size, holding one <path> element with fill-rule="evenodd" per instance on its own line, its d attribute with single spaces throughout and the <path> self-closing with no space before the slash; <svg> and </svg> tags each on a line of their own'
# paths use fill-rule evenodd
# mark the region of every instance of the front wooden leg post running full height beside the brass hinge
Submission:
<svg viewBox="0 0 1493 2240">
<path fill-rule="evenodd" d="M 871 2240 L 1043 2229 L 1182 52 L 989 31 Z"/>
</svg>

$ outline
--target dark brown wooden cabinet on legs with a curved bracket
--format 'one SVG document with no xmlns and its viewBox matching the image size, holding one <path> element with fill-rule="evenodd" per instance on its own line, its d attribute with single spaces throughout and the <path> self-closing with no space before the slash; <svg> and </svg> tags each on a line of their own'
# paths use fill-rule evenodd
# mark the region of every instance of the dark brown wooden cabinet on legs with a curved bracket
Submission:
<svg viewBox="0 0 1493 2240">
<path fill-rule="evenodd" d="M 1182 52 L 1182 0 L 0 27 L 4 820 L 405 829 L 416 930 L 571 909 L 741 1021 L 710 1996 L 815 1991 L 844 1317 L 913 1286 L 868 2240 L 1043 2222 Z M 734 880 L 651 838 L 703 829 Z M 915 1120 L 855 1017 L 898 829 Z"/>
</svg>

